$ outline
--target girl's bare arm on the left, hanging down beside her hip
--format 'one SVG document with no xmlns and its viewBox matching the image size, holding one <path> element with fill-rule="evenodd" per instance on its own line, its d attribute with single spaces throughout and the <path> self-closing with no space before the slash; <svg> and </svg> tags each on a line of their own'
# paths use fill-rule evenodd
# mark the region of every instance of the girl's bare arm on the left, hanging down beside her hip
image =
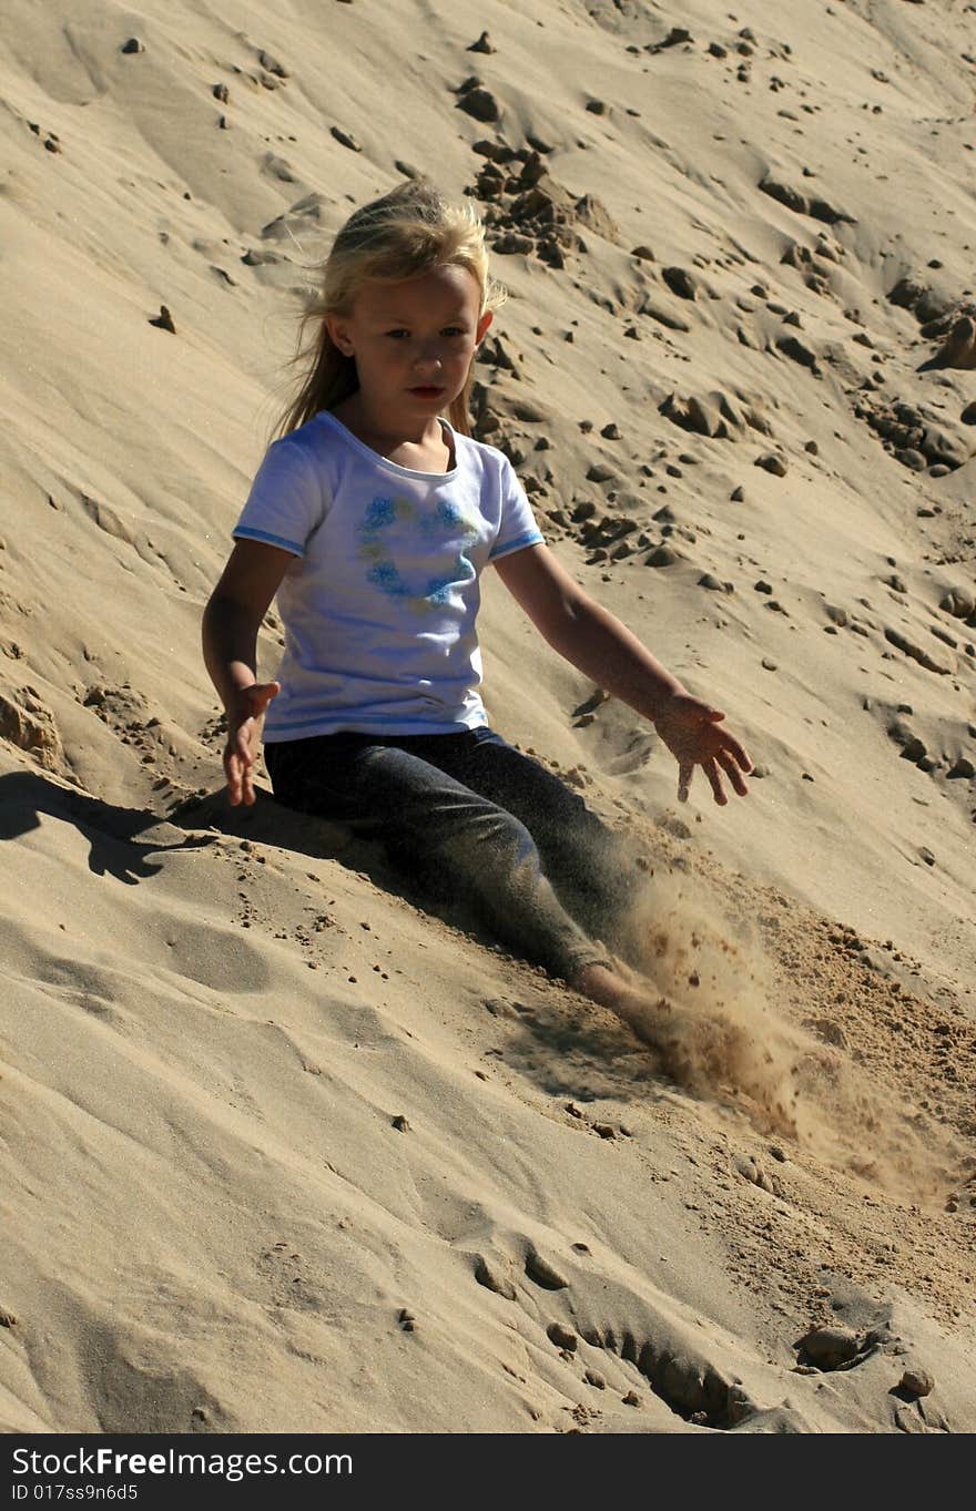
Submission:
<svg viewBox="0 0 976 1511">
<path fill-rule="evenodd" d="M 237 541 L 204 609 L 204 660 L 227 709 L 224 772 L 233 805 L 254 802 L 261 715 L 280 692 L 257 680 L 257 632 L 295 558 L 261 541 Z"/>
</svg>

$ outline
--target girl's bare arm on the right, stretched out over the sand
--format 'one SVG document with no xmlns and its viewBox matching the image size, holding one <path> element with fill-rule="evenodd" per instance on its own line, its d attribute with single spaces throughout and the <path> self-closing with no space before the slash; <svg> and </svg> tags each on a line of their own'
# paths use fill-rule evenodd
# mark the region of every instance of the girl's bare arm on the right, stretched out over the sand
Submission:
<svg viewBox="0 0 976 1511">
<path fill-rule="evenodd" d="M 701 766 L 716 802 L 728 802 L 722 774 L 739 796 L 752 762 L 722 728 L 725 715 L 692 694 L 607 609 L 573 582 L 545 545 L 496 562 L 496 571 L 539 635 L 597 686 L 650 719 L 678 763 L 678 799 Z"/>
</svg>

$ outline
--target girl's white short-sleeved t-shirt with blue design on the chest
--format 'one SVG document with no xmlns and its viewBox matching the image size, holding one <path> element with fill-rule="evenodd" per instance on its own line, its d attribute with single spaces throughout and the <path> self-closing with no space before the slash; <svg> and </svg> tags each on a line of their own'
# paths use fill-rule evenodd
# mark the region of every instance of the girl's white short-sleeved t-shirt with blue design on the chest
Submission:
<svg viewBox="0 0 976 1511">
<path fill-rule="evenodd" d="M 542 536 L 509 459 L 441 423 L 446 473 L 399 467 L 328 411 L 269 447 L 234 529 L 295 556 L 266 742 L 486 722 L 479 574 Z"/>
</svg>

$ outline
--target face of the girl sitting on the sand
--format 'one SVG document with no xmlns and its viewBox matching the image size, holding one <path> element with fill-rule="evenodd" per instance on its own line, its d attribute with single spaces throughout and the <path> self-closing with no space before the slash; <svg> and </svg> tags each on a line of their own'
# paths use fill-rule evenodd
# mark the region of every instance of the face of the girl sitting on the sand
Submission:
<svg viewBox="0 0 976 1511">
<path fill-rule="evenodd" d="M 363 400 L 384 428 L 446 409 L 467 382 L 491 325 L 467 267 L 435 267 L 403 283 L 369 283 L 349 316 L 326 316 L 332 343 L 354 357 Z"/>
</svg>

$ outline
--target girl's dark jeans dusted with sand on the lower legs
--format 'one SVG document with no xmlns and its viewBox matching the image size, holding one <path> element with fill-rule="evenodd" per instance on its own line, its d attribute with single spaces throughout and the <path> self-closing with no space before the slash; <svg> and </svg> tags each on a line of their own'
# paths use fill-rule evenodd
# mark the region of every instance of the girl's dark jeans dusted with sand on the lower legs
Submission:
<svg viewBox="0 0 976 1511">
<path fill-rule="evenodd" d="M 320 734 L 266 745 L 264 762 L 286 807 L 381 840 L 526 959 L 567 979 L 607 963 L 638 873 L 582 798 L 493 730 Z"/>
</svg>

